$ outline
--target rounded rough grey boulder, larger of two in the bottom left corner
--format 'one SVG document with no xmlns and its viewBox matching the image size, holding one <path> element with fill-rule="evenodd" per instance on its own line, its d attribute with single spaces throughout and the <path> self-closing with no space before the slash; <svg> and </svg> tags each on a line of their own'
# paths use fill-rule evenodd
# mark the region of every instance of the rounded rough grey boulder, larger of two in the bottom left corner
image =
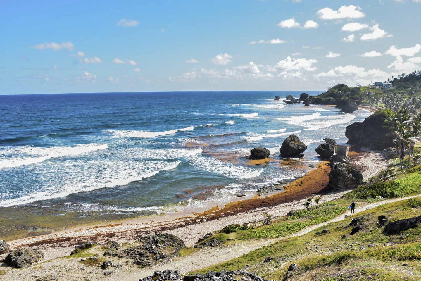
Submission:
<svg viewBox="0 0 421 281">
<path fill-rule="evenodd" d="M 43 258 L 44 254 L 38 248 L 20 247 L 8 254 L 5 262 L 14 268 L 27 268 Z"/>
</svg>

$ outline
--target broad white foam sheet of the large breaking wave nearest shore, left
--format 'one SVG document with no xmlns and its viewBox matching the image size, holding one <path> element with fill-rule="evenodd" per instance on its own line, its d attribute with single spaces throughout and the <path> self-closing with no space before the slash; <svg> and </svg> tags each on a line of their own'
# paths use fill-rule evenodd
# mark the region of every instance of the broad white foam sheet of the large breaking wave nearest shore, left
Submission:
<svg viewBox="0 0 421 281">
<path fill-rule="evenodd" d="M 175 169 L 181 161 L 168 163 L 166 161 L 85 161 L 80 163 L 57 163 L 45 167 L 53 169 L 67 168 L 70 174 L 64 179 L 45 179 L 42 190 L 29 193 L 19 198 L 0 201 L 0 206 L 7 207 L 30 203 L 38 200 L 62 198 L 72 193 L 86 192 L 103 187 L 127 185 L 130 182 L 152 177 L 160 171 Z M 43 180 L 43 179 L 41 179 Z M 44 183 L 44 182 L 43 182 Z"/>
</svg>

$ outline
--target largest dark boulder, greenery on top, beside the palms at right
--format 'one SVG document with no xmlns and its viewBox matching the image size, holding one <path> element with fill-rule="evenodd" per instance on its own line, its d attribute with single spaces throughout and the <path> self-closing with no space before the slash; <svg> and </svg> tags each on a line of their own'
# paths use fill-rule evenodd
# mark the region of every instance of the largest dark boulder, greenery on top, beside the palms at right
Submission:
<svg viewBox="0 0 421 281">
<path fill-rule="evenodd" d="M 390 110 L 377 110 L 362 122 L 354 122 L 346 127 L 348 143 L 374 150 L 394 146 L 393 134 L 384 121 L 392 115 Z"/>
</svg>

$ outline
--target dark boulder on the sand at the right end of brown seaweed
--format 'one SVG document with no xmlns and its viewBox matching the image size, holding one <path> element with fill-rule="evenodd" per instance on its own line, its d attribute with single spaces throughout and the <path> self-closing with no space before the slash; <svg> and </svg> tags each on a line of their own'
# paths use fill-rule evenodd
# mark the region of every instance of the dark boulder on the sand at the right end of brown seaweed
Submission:
<svg viewBox="0 0 421 281">
<path fill-rule="evenodd" d="M 362 185 L 362 174 L 351 164 L 330 162 L 328 187 L 334 190 L 348 190 Z"/>
</svg>

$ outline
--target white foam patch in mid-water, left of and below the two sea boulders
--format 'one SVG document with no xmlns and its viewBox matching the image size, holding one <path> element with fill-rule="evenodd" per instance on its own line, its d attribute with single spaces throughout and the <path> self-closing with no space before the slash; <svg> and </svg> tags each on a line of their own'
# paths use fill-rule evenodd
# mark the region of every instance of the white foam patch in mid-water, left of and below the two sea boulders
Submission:
<svg viewBox="0 0 421 281">
<path fill-rule="evenodd" d="M 202 169 L 211 173 L 220 174 L 227 178 L 248 179 L 257 177 L 263 171 L 263 168 L 249 168 L 238 166 L 233 163 L 224 162 L 216 158 L 193 155 L 187 159 L 197 169 Z"/>
</svg>

